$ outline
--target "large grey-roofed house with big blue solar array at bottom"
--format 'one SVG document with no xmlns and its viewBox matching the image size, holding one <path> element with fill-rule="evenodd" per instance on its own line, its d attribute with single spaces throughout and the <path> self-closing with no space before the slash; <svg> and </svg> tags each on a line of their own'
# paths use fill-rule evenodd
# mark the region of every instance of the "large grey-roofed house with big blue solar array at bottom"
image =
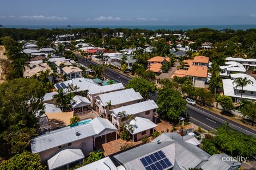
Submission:
<svg viewBox="0 0 256 170">
<path fill-rule="evenodd" d="M 194 138 L 194 137 L 193 137 Z M 194 140 L 197 140 L 194 138 Z M 240 162 L 223 161 L 226 154 L 209 155 L 204 150 L 184 141 L 177 133 L 162 133 L 153 141 L 113 156 L 119 169 L 179 169 L 202 168 L 203 170 L 238 169 Z M 230 157 L 229 157 L 230 158 Z M 215 160 L 218 163 L 216 164 Z M 93 169 L 92 169 L 93 170 Z"/>
</svg>

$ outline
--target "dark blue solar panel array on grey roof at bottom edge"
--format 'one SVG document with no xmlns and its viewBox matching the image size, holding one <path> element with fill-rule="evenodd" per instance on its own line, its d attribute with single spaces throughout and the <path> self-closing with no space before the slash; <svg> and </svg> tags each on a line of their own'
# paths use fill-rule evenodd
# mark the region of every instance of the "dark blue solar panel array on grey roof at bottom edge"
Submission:
<svg viewBox="0 0 256 170">
<path fill-rule="evenodd" d="M 141 159 L 142 164 L 147 170 L 163 170 L 172 166 L 166 155 L 160 150 Z"/>
</svg>

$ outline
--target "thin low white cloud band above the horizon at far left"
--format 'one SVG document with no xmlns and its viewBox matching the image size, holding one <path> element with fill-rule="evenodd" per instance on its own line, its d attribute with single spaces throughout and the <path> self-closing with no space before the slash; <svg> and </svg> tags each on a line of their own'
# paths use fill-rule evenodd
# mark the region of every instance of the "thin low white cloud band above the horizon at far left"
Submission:
<svg viewBox="0 0 256 170">
<path fill-rule="evenodd" d="M 61 21 L 68 20 L 67 17 L 58 17 L 58 16 L 43 16 L 43 15 L 23 15 L 23 16 L 0 16 L 1 18 L 17 18 L 17 19 L 26 19 L 26 20 L 45 20 L 45 21 Z"/>
</svg>

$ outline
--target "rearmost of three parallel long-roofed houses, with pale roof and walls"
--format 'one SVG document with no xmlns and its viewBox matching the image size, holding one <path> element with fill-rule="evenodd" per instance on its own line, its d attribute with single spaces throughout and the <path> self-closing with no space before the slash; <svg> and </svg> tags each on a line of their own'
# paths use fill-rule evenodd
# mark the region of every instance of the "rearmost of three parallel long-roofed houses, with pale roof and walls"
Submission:
<svg viewBox="0 0 256 170">
<path fill-rule="evenodd" d="M 103 83 L 103 82 L 102 82 Z M 94 86 L 90 87 L 87 92 L 87 97 L 92 103 L 92 107 L 95 109 L 95 102 L 96 102 L 96 97 L 104 94 L 104 93 L 109 93 L 109 92 L 114 92 L 114 91 L 119 91 L 119 90 L 124 90 L 125 87 L 121 83 L 117 84 L 110 84 L 106 86 Z"/>
</svg>

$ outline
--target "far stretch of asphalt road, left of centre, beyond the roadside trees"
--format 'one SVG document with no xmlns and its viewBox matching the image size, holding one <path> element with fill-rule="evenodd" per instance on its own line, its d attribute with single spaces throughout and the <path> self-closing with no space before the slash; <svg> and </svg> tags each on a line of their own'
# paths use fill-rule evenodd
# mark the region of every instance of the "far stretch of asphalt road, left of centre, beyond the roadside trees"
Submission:
<svg viewBox="0 0 256 170">
<path fill-rule="evenodd" d="M 100 65 L 100 64 L 97 64 L 97 62 L 94 62 L 91 60 L 86 60 L 86 59 L 82 58 L 80 55 L 77 55 L 77 57 L 78 57 L 78 62 L 80 62 L 83 65 L 86 65 L 86 66 L 87 65 Z M 104 75 L 106 78 L 117 81 L 118 83 L 123 83 L 124 85 L 126 85 L 128 83 L 128 81 L 131 80 L 130 77 L 128 77 L 124 74 L 121 74 L 119 72 L 116 72 L 116 71 L 112 70 L 111 68 L 108 68 L 108 67 L 104 67 L 104 68 L 105 68 Z"/>
</svg>

